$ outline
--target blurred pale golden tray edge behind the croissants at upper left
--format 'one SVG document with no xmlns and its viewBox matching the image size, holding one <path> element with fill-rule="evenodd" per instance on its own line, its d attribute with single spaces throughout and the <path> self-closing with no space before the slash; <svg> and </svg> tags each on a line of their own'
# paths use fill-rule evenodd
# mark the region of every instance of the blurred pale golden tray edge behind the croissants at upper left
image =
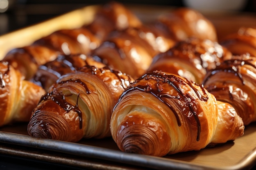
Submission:
<svg viewBox="0 0 256 170">
<path fill-rule="evenodd" d="M 84 7 L 71 11 L 56 18 L 46 20 L 39 24 L 31 25 L 18 31 L 13 31 L 0 36 L 0 59 L 13 48 L 30 45 L 50 33 L 60 29 L 74 29 L 83 24 L 90 23 L 94 18 L 97 6 Z M 86 17 L 84 17 L 86 16 Z"/>
</svg>

